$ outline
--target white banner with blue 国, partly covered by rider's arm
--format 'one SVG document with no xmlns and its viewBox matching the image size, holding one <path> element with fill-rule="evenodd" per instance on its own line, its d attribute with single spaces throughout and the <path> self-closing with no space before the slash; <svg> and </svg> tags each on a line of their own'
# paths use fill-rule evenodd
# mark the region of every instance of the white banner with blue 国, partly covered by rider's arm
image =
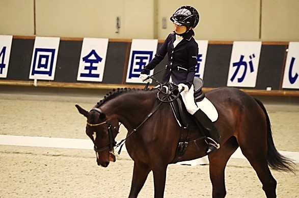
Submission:
<svg viewBox="0 0 299 198">
<path fill-rule="evenodd" d="M 157 45 L 157 39 L 132 39 L 126 82 L 142 83 L 140 72 L 154 58 Z"/>
</svg>

